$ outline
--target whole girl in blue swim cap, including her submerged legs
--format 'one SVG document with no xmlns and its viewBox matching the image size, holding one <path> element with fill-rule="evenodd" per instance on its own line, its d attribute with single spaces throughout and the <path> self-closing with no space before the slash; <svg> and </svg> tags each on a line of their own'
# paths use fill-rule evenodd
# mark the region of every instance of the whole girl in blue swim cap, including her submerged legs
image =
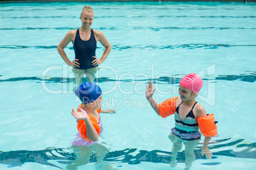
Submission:
<svg viewBox="0 0 256 170">
<path fill-rule="evenodd" d="M 69 164 L 66 169 L 77 169 L 79 166 L 97 161 L 96 164 L 104 164 L 104 157 L 109 149 L 98 142 L 103 132 L 103 124 L 100 113 L 115 113 L 115 110 L 101 110 L 102 91 L 94 82 L 83 82 L 75 94 L 82 104 L 78 110 L 72 108 L 71 114 L 77 119 L 78 133 L 72 143 L 77 159 Z M 108 169 L 108 165 L 106 166 Z M 109 167 L 111 168 L 111 165 Z"/>
</svg>

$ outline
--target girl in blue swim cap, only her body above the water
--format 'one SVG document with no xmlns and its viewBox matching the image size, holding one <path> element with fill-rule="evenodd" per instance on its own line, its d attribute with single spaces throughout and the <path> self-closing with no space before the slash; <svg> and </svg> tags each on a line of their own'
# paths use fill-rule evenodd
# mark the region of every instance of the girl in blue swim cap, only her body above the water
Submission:
<svg viewBox="0 0 256 170">
<path fill-rule="evenodd" d="M 82 104 L 78 107 L 78 111 L 72 108 L 71 114 L 78 120 L 77 128 L 83 140 L 76 139 L 74 145 L 90 146 L 98 140 L 103 131 L 99 113 L 113 113 L 115 110 L 101 110 L 102 91 L 94 82 L 83 82 L 76 89 L 75 94 Z"/>
</svg>

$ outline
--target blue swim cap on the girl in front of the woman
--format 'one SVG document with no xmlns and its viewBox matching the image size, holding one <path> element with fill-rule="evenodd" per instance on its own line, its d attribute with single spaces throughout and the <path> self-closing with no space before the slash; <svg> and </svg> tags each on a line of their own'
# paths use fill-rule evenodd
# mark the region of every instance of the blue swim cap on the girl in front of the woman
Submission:
<svg viewBox="0 0 256 170">
<path fill-rule="evenodd" d="M 83 82 L 78 89 L 76 89 L 75 93 L 82 103 L 92 103 L 92 101 L 97 100 L 103 92 L 94 82 Z"/>
</svg>

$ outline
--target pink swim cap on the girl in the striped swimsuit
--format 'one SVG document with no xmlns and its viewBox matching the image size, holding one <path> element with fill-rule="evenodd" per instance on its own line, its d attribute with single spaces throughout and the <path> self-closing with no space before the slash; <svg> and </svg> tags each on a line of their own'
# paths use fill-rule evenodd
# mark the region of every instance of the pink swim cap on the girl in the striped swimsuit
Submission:
<svg viewBox="0 0 256 170">
<path fill-rule="evenodd" d="M 190 89 L 194 93 L 198 93 L 203 86 L 201 77 L 196 73 L 190 73 L 185 75 L 181 81 L 180 86 Z"/>
</svg>

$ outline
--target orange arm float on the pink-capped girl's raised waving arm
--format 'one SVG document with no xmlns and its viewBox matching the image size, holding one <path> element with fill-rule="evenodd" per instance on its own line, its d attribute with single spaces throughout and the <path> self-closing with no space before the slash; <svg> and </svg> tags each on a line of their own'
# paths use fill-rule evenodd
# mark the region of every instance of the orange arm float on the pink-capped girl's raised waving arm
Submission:
<svg viewBox="0 0 256 170">
<path fill-rule="evenodd" d="M 159 104 L 159 115 L 162 118 L 166 118 L 169 115 L 173 115 L 176 110 L 176 100 L 178 96 L 169 98 L 166 101 Z"/>
</svg>

